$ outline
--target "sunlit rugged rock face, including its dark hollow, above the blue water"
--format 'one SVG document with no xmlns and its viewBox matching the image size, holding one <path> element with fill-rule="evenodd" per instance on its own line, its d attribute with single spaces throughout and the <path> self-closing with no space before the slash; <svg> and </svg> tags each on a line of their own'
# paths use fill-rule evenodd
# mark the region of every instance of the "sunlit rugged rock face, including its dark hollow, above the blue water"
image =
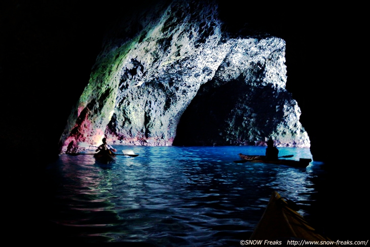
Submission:
<svg viewBox="0 0 370 247">
<path fill-rule="evenodd" d="M 61 136 L 61 152 L 97 145 L 309 147 L 285 90 L 285 42 L 231 38 L 217 5 L 173 1 L 107 36 Z"/>
</svg>

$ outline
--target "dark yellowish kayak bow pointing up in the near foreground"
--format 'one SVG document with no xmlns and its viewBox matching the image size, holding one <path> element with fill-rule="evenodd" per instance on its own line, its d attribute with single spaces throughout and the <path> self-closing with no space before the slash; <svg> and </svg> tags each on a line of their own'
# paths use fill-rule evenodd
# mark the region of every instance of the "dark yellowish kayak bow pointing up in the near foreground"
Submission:
<svg viewBox="0 0 370 247">
<path fill-rule="evenodd" d="M 273 241 L 276 245 L 283 246 L 338 246 L 335 241 L 311 227 L 297 212 L 297 207 L 293 201 L 282 198 L 274 191 L 249 240 L 262 240 L 261 245 L 265 246 L 272 245 Z"/>
</svg>

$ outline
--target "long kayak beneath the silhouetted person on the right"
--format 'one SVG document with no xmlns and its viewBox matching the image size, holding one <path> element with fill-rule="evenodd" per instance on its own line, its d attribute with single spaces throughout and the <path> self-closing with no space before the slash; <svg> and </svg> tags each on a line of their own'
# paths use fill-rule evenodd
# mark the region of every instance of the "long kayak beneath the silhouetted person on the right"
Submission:
<svg viewBox="0 0 370 247">
<path fill-rule="evenodd" d="M 260 163 L 269 163 L 269 164 L 280 164 L 287 165 L 292 167 L 307 167 L 311 159 L 300 158 L 300 160 L 289 160 L 289 159 L 277 159 L 277 160 L 268 160 L 265 155 L 245 155 L 239 154 L 241 160 L 234 161 L 235 163 L 245 163 L 245 162 L 260 162 Z M 291 157 L 291 155 L 282 156 L 282 157 Z"/>
</svg>

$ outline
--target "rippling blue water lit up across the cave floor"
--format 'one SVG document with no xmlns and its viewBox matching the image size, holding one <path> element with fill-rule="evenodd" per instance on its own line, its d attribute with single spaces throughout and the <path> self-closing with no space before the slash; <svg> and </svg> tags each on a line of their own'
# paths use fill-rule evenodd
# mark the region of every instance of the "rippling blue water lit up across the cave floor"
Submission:
<svg viewBox="0 0 370 247">
<path fill-rule="evenodd" d="M 92 155 L 61 155 L 51 164 L 50 221 L 73 242 L 142 242 L 155 246 L 238 245 L 248 239 L 271 193 L 309 214 L 315 190 L 307 168 L 234 163 L 263 147 L 122 147 L 110 166 Z M 309 149 L 280 148 L 280 156 L 312 158 Z"/>
</svg>

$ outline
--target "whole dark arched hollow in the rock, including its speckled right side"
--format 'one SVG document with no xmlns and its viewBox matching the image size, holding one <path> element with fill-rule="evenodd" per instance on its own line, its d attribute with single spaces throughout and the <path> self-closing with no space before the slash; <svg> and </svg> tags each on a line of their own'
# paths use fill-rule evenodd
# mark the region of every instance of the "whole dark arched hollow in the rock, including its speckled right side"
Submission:
<svg viewBox="0 0 370 247">
<path fill-rule="evenodd" d="M 173 146 L 254 146 L 276 130 L 290 101 L 285 90 L 250 86 L 243 78 L 209 81 L 182 114 Z"/>
</svg>

